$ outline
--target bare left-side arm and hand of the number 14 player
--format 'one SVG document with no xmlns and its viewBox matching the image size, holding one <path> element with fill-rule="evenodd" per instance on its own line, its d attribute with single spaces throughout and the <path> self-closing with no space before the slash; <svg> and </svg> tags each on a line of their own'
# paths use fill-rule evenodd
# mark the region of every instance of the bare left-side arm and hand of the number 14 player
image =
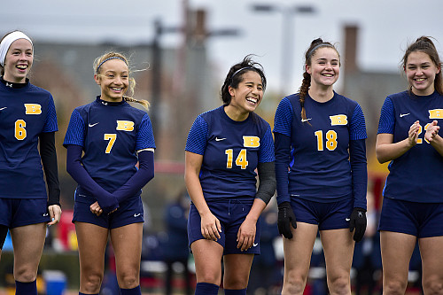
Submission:
<svg viewBox="0 0 443 295">
<path fill-rule="evenodd" d="M 203 156 L 190 151 L 185 151 L 185 165 L 184 165 L 184 182 L 190 199 L 194 206 L 196 206 L 201 218 L 201 234 L 206 239 L 216 241 L 220 238 L 221 224 L 220 221 L 211 213 L 206 204 L 201 183 L 198 178 L 200 174 L 200 167 L 203 163 Z"/>
</svg>

